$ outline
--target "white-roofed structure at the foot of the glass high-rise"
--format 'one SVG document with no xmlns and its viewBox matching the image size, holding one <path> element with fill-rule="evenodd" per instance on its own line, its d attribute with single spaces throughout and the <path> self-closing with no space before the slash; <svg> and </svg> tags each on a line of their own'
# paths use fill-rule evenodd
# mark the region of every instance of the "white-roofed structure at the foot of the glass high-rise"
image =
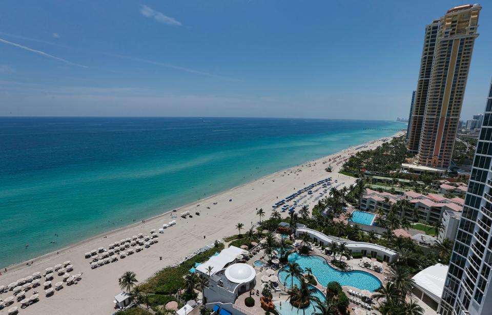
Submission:
<svg viewBox="0 0 492 315">
<path fill-rule="evenodd" d="M 446 265 L 436 264 L 425 268 L 412 278 L 415 281 L 414 295 L 436 311 L 441 302 L 447 269 Z"/>
</svg>

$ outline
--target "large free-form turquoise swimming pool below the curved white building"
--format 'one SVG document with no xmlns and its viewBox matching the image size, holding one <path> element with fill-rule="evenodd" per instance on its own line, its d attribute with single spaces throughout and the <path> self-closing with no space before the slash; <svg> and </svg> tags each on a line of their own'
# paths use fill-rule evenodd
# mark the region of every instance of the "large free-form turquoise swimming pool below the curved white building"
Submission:
<svg viewBox="0 0 492 315">
<path fill-rule="evenodd" d="M 303 256 L 298 253 L 289 255 L 289 261 L 297 262 L 302 269 L 311 268 L 313 275 L 318 279 L 318 282 L 326 286 L 329 282 L 336 281 L 340 285 L 348 285 L 359 288 L 361 290 L 374 291 L 381 286 L 381 281 L 375 276 L 368 274 L 364 271 L 339 271 L 330 266 L 320 256 Z M 286 271 L 286 267 L 283 267 L 278 272 L 278 279 L 281 283 L 286 283 L 287 287 L 291 287 L 291 277 Z M 294 278 L 294 284 L 300 285 L 300 281 Z"/>
</svg>

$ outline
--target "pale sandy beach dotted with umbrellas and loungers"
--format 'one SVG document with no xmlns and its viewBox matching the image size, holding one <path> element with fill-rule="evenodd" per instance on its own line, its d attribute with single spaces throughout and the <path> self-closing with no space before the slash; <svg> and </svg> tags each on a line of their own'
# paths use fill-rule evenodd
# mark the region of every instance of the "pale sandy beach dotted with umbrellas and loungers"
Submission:
<svg viewBox="0 0 492 315">
<path fill-rule="evenodd" d="M 401 134 L 398 132 L 395 136 Z M 139 281 L 145 281 L 156 271 L 181 261 L 196 249 L 217 239 L 237 234 L 235 228 L 237 223 L 244 224 L 243 231 L 249 229 L 252 224 L 259 221 L 256 208 L 263 208 L 266 213 L 265 218 L 268 218 L 275 202 L 313 182 L 333 177 L 333 180 L 338 180 L 338 184 L 350 185 L 354 183 L 355 178 L 338 173 L 342 160 L 357 151 L 374 149 L 389 138 L 391 137 L 374 140 L 365 145 L 356 145 L 330 156 L 291 167 L 193 204 L 182 206 L 177 209 L 177 218 L 171 218 L 172 213 L 164 214 L 146 220 L 145 223 L 133 224 L 79 242 L 68 248 L 58 250 L 58 253 L 33 259 L 32 265 L 26 265 L 24 262 L 8 268 L 6 273 L 1 270 L 0 285 L 5 286 L 17 279 L 30 276 L 35 271 L 44 274 L 47 267 L 53 267 L 67 260 L 73 264 L 74 270 L 70 272 L 71 274 L 83 272 L 83 275 L 79 283 L 71 286 L 64 285 L 63 289 L 56 291 L 49 298 L 45 297 L 43 285 L 30 289 L 26 293 L 26 297 L 29 298 L 33 290 L 39 291 L 40 297 L 37 303 L 20 309 L 20 303 L 15 301 L 12 305 L 0 310 L 0 314 L 7 314 L 7 310 L 12 306 L 19 307 L 19 314 L 112 314 L 115 312 L 114 296 L 121 291 L 118 278 L 123 272 L 134 271 Z M 329 159 L 332 161 L 323 164 L 323 161 Z M 334 167 L 332 173 L 325 172 L 324 169 L 327 165 Z M 229 201 L 230 199 L 232 201 Z M 197 206 L 198 204 L 199 206 Z M 310 209 L 315 204 L 316 202 L 311 202 Z M 200 210 L 200 216 L 194 215 L 196 210 Z M 193 218 L 182 219 L 179 217 L 179 213 L 184 211 L 190 211 Z M 286 216 L 286 214 L 282 215 Z M 132 237 L 139 233 L 150 234 L 151 229 L 159 229 L 162 224 L 171 220 L 176 220 L 176 225 L 165 229 L 163 234 L 158 234 L 158 243 L 140 253 L 96 269 L 91 269 L 90 259 L 84 257 L 84 253 L 99 247 L 108 249 L 110 243 L 120 239 Z M 205 239 L 204 236 L 206 236 Z M 61 281 L 61 279 L 55 274 L 52 283 Z M 41 280 L 42 284 L 43 282 L 44 278 Z M 2 293 L 0 299 L 5 300 L 12 295 L 12 291 Z"/>
</svg>

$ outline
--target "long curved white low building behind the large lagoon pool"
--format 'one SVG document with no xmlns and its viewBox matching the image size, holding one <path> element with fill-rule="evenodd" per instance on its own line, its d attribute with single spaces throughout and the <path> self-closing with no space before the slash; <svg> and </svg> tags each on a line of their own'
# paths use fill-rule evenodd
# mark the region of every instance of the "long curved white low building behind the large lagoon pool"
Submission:
<svg viewBox="0 0 492 315">
<path fill-rule="evenodd" d="M 336 237 L 325 235 L 315 229 L 302 227 L 296 229 L 296 237 L 308 234 L 309 237 L 314 241 L 318 242 L 321 246 L 328 246 L 335 242 L 340 244 L 342 242 L 346 243 L 347 249 L 352 253 L 361 253 L 363 256 L 371 254 L 372 257 L 381 257 L 381 259 L 388 263 L 396 262 L 398 259 L 398 253 L 393 249 L 386 248 L 381 245 L 365 242 L 355 242 L 350 240 L 339 240 Z"/>
</svg>

